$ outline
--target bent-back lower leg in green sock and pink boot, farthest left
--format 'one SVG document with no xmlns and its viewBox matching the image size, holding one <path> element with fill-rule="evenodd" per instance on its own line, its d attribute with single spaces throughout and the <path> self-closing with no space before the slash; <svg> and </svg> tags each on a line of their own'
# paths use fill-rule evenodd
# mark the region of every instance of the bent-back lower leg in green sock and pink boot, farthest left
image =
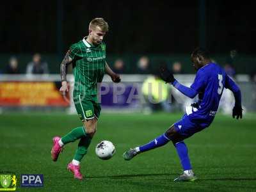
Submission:
<svg viewBox="0 0 256 192">
<path fill-rule="evenodd" d="M 58 160 L 58 156 L 60 155 L 60 152 L 63 149 L 63 146 L 65 144 L 74 142 L 79 138 L 83 138 L 84 136 L 86 136 L 84 127 L 77 127 L 76 129 L 73 129 L 62 138 L 60 138 L 59 136 L 55 136 L 54 138 L 52 138 L 52 141 L 53 141 L 52 150 L 51 150 L 52 161 Z"/>
</svg>

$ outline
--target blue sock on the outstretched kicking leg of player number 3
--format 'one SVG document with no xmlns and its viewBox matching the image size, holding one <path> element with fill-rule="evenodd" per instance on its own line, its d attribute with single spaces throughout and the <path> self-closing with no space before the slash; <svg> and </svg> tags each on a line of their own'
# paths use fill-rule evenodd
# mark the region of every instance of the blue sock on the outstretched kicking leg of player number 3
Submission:
<svg viewBox="0 0 256 192">
<path fill-rule="evenodd" d="M 153 141 L 150 141 L 146 145 L 140 146 L 140 152 L 145 152 L 145 151 L 151 150 L 153 148 L 161 147 L 161 146 L 165 145 L 166 143 L 168 143 L 169 141 L 170 140 L 168 139 L 168 137 L 165 136 L 165 134 L 162 134 L 161 136 L 154 139 Z"/>
</svg>

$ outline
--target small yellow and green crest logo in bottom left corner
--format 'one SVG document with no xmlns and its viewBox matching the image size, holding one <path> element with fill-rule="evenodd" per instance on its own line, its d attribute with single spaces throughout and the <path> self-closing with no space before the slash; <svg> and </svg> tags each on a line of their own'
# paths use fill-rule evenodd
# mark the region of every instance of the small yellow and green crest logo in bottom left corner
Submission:
<svg viewBox="0 0 256 192">
<path fill-rule="evenodd" d="M 15 174 L 0 175 L 0 191 L 15 191 L 17 178 Z"/>
</svg>

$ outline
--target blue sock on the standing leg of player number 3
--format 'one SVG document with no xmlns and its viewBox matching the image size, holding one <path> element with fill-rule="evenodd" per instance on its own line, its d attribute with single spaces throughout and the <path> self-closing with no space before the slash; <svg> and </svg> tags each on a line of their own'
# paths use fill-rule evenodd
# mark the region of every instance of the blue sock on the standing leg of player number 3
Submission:
<svg viewBox="0 0 256 192">
<path fill-rule="evenodd" d="M 188 148 L 183 141 L 175 143 L 175 148 L 180 157 L 180 163 L 182 164 L 183 170 L 192 170 L 190 160 L 188 157 Z"/>
</svg>

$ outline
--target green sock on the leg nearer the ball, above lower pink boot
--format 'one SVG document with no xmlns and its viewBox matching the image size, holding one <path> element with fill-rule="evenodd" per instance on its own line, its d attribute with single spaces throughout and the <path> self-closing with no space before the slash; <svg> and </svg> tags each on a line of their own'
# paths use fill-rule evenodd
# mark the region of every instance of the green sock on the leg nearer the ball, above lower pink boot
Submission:
<svg viewBox="0 0 256 192">
<path fill-rule="evenodd" d="M 81 140 L 78 143 L 78 148 L 76 150 L 76 154 L 74 156 L 74 159 L 76 161 L 81 161 L 84 157 L 84 155 L 87 153 L 88 147 L 92 141 L 92 138 L 90 136 L 86 136 L 84 138 L 81 138 Z"/>
</svg>

